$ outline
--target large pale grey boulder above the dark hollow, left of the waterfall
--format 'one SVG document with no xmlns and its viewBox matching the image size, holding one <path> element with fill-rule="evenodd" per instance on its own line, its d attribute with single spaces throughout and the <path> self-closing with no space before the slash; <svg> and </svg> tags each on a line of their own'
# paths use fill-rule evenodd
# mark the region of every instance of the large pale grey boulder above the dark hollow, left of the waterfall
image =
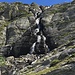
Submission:
<svg viewBox="0 0 75 75">
<path fill-rule="evenodd" d="M 7 26 L 6 30 L 6 44 L 13 44 L 18 38 L 20 38 L 26 29 L 30 26 L 27 17 L 17 19 Z"/>
</svg>

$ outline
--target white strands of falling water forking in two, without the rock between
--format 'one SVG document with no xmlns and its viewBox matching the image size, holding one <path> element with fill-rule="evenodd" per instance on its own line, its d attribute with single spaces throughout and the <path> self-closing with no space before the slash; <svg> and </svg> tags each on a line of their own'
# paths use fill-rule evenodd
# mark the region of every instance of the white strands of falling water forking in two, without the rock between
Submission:
<svg viewBox="0 0 75 75">
<path fill-rule="evenodd" d="M 36 22 L 36 25 L 37 25 L 37 27 L 38 27 L 38 28 L 36 28 L 36 29 L 34 30 L 34 35 L 37 36 L 37 41 L 34 42 L 33 45 L 31 46 L 31 51 L 30 51 L 30 53 L 34 53 L 34 52 L 35 52 L 36 43 L 37 43 L 37 42 L 40 43 L 42 38 L 43 38 L 43 41 L 44 41 L 44 47 L 46 47 L 46 48 L 49 50 L 48 45 L 45 43 L 46 37 L 45 37 L 42 33 L 39 34 L 39 35 L 37 34 L 37 33 L 40 32 L 40 24 L 39 24 L 40 18 L 37 18 L 35 22 Z M 41 36 L 41 35 L 42 35 L 42 36 Z"/>
</svg>

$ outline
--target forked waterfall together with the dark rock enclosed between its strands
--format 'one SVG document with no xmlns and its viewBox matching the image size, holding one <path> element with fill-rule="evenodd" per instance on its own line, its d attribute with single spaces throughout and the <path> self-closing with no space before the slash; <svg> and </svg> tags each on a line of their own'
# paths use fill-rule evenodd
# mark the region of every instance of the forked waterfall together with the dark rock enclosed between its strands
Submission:
<svg viewBox="0 0 75 75">
<path fill-rule="evenodd" d="M 33 43 L 31 46 L 30 53 L 37 53 L 37 52 L 48 52 L 49 48 L 48 45 L 46 44 L 46 37 L 43 35 L 43 31 L 41 29 L 41 24 L 40 24 L 40 18 L 36 19 L 36 25 L 37 28 L 34 30 L 34 35 L 37 37 L 36 42 Z M 44 50 L 42 50 L 44 49 Z M 45 51 L 47 49 L 47 51 Z"/>
</svg>

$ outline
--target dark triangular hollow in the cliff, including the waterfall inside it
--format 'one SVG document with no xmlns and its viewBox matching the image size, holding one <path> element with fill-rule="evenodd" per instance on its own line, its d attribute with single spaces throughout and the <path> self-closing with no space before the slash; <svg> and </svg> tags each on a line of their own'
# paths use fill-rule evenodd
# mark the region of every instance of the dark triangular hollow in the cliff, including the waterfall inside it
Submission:
<svg viewBox="0 0 75 75">
<path fill-rule="evenodd" d="M 55 40 L 52 39 L 52 36 L 47 33 L 49 30 L 42 24 L 41 17 L 41 15 L 36 15 L 36 25 L 34 25 L 34 23 L 27 28 L 22 37 L 16 40 L 10 48 L 8 46 L 3 48 L 4 56 L 19 57 L 20 55 L 26 55 L 28 53 L 45 54 L 58 46 L 55 44 Z"/>
</svg>

